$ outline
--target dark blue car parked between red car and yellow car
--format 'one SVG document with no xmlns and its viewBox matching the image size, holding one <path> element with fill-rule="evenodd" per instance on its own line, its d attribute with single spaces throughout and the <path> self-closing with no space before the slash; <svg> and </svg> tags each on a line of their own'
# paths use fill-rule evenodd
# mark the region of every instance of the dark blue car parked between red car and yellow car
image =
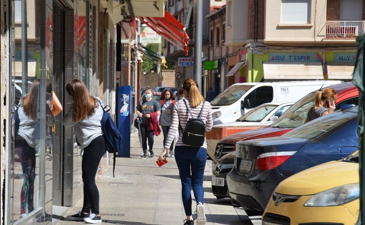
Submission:
<svg viewBox="0 0 365 225">
<path fill-rule="evenodd" d="M 357 116 L 355 106 L 322 116 L 280 137 L 239 141 L 234 168 L 227 175 L 233 205 L 264 211 L 276 186 L 288 176 L 355 152 Z"/>
</svg>

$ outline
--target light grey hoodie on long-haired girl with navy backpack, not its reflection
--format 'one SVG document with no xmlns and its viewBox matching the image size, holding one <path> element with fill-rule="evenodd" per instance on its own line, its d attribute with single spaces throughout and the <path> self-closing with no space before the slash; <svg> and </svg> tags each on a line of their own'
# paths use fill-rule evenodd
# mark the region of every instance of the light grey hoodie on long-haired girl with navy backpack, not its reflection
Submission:
<svg viewBox="0 0 365 225">
<path fill-rule="evenodd" d="M 100 98 L 97 99 L 100 100 Z M 101 118 L 103 117 L 104 113 L 104 104 L 103 101 L 100 100 L 100 102 L 101 107 L 98 103 L 97 107 L 95 108 L 95 113 L 91 117 L 87 116 L 78 122 L 72 121 L 73 105 L 71 105 L 70 110 L 68 113 L 66 113 L 64 119 L 62 120 L 62 123 L 65 127 L 73 126 L 77 144 L 80 146 L 80 148 L 86 148 L 92 140 L 94 140 L 96 137 L 99 137 L 100 135 L 103 135 L 103 132 L 101 131 Z"/>
</svg>

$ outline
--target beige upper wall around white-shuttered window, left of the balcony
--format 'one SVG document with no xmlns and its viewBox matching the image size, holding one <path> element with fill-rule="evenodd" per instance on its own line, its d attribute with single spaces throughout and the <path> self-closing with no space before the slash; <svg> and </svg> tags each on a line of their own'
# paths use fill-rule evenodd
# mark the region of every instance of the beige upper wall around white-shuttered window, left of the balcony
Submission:
<svg viewBox="0 0 365 225">
<path fill-rule="evenodd" d="M 281 23 L 281 0 L 265 1 L 264 43 L 322 42 L 326 34 L 327 0 L 311 0 L 307 24 Z"/>
</svg>

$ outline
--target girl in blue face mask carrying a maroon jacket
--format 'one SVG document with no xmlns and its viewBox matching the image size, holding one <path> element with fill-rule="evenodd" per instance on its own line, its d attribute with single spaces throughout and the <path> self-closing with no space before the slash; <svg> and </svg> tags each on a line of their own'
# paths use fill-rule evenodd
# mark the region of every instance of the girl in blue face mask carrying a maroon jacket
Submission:
<svg viewBox="0 0 365 225">
<path fill-rule="evenodd" d="M 142 118 L 142 122 L 139 123 L 139 131 L 141 132 L 142 138 L 142 148 L 143 148 L 143 155 L 142 159 L 147 158 L 147 138 L 148 138 L 148 145 L 149 145 L 149 154 L 153 158 L 155 155 L 153 153 L 153 131 L 149 131 L 147 129 L 147 118 L 150 118 L 150 113 L 157 113 L 160 115 L 160 104 L 158 104 L 157 100 L 153 99 L 153 92 L 151 88 L 146 88 L 145 90 L 145 98 L 139 101 L 137 105 L 136 113 L 139 117 Z"/>
</svg>

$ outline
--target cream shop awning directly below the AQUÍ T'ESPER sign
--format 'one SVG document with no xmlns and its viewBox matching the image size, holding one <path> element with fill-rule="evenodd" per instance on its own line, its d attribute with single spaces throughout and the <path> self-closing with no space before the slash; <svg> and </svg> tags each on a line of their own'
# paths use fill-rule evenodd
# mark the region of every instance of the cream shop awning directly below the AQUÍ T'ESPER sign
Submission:
<svg viewBox="0 0 365 225">
<path fill-rule="evenodd" d="M 320 62 L 263 62 L 264 79 L 323 79 Z"/>
</svg>

